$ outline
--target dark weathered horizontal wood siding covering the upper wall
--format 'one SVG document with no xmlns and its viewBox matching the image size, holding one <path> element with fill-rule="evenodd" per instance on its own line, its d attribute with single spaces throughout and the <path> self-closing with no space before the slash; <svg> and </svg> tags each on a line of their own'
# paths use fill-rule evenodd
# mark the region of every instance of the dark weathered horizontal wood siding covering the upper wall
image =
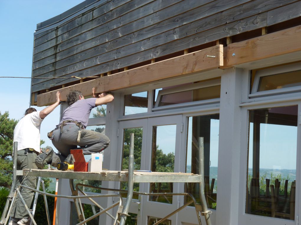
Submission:
<svg viewBox="0 0 301 225">
<path fill-rule="evenodd" d="M 33 77 L 41 79 L 32 92 L 272 26 L 300 8 L 301 0 L 107 1 L 35 35 Z"/>
</svg>

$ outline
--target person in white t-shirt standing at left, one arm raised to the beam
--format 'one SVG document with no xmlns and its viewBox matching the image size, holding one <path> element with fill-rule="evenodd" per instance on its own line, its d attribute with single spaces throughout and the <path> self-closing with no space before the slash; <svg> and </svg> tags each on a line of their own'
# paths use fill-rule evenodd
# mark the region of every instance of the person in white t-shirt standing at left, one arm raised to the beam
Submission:
<svg viewBox="0 0 301 225">
<path fill-rule="evenodd" d="M 57 91 L 56 102 L 46 107 L 42 111 L 36 111 L 29 108 L 25 111 L 25 115 L 17 123 L 14 129 L 14 142 L 18 143 L 17 147 L 17 170 L 37 169 L 35 160 L 40 154 L 40 126 L 43 119 L 51 113 L 60 104 L 60 93 Z M 51 147 L 46 148 L 46 152 L 52 150 Z M 16 187 L 23 184 L 28 187 L 36 188 L 35 176 L 17 176 Z M 33 200 L 34 192 L 27 188 L 20 188 L 20 193 L 30 208 Z M 29 224 L 29 214 L 23 205 L 19 195 L 17 195 L 12 211 L 11 221 L 8 225 L 25 225 Z"/>
</svg>

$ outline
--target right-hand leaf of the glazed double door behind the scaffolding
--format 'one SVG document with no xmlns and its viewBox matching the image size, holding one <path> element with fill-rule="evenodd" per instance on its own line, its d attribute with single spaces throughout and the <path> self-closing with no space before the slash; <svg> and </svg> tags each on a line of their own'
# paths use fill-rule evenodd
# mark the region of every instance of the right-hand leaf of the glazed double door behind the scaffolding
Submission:
<svg viewBox="0 0 301 225">
<path fill-rule="evenodd" d="M 147 142 L 141 169 L 152 172 L 179 172 L 182 115 L 149 118 L 147 121 Z M 144 167 L 142 166 L 144 165 Z M 144 192 L 178 192 L 176 183 L 145 183 Z M 153 224 L 177 208 L 178 196 L 143 196 L 141 202 L 141 224 Z M 162 224 L 175 224 L 173 215 Z"/>
</svg>

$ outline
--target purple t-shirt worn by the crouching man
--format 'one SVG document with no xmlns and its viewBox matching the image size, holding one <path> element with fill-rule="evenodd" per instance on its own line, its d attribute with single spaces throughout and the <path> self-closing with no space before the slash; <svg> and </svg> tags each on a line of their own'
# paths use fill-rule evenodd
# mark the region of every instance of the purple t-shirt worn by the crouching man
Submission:
<svg viewBox="0 0 301 225">
<path fill-rule="evenodd" d="M 64 120 L 74 120 L 81 122 L 83 127 L 86 128 L 90 112 L 95 107 L 95 101 L 96 98 L 77 100 L 64 111 L 62 120 L 57 126 L 61 125 Z"/>
</svg>

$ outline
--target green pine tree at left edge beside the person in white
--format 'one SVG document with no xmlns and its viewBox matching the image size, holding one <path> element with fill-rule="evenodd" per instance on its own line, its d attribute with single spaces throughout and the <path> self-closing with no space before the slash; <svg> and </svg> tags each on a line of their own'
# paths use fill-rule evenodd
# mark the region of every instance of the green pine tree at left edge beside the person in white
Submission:
<svg viewBox="0 0 301 225">
<path fill-rule="evenodd" d="M 9 188 L 12 183 L 14 128 L 18 121 L 8 116 L 8 112 L 0 112 L 0 186 Z"/>
</svg>

